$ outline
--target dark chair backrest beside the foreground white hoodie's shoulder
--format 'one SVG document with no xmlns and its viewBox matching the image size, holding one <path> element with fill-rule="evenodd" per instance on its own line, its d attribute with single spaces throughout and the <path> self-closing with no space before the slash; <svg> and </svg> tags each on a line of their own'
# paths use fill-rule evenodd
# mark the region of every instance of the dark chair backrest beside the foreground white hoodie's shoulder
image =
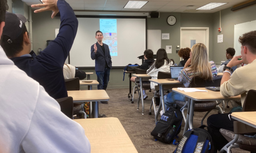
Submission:
<svg viewBox="0 0 256 153">
<path fill-rule="evenodd" d="M 73 119 L 73 98 L 65 97 L 56 99 L 61 106 L 61 112 L 67 115 L 67 117 Z"/>
</svg>

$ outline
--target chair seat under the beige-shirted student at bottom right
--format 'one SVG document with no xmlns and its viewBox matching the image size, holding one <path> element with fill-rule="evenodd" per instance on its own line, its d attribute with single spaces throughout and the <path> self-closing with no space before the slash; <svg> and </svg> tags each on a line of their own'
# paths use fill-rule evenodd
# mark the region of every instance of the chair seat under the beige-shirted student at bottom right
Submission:
<svg viewBox="0 0 256 153">
<path fill-rule="evenodd" d="M 227 129 L 219 129 L 219 132 L 225 137 L 228 141 L 231 141 L 235 138 L 235 133 L 233 131 L 229 131 Z M 256 139 L 251 137 L 246 137 L 242 134 L 239 134 L 238 144 L 241 145 L 250 145 L 250 146 L 256 146 Z"/>
</svg>

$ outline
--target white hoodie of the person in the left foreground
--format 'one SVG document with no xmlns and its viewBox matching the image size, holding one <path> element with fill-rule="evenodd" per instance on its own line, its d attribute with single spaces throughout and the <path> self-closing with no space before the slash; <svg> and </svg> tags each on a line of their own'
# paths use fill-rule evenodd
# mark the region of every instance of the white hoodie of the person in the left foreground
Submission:
<svg viewBox="0 0 256 153">
<path fill-rule="evenodd" d="M 90 153 L 84 129 L 0 47 L 0 153 Z"/>
</svg>

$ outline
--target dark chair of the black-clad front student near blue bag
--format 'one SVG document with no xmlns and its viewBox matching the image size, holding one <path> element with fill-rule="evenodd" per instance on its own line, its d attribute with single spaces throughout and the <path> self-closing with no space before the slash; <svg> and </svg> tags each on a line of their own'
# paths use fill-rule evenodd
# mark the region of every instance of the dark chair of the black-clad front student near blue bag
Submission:
<svg viewBox="0 0 256 153">
<path fill-rule="evenodd" d="M 139 69 L 139 68 L 135 68 L 135 72 L 136 74 L 140 74 L 140 75 L 143 75 L 143 74 L 146 74 L 146 71 L 147 70 L 142 70 L 142 69 Z M 148 80 L 148 78 L 145 78 Z M 143 80 L 143 78 L 142 78 Z M 146 80 L 144 80 L 146 81 Z M 151 92 L 151 89 L 150 89 L 150 82 L 142 82 L 143 84 L 143 88 L 145 88 L 146 90 L 149 89 L 149 92 Z M 133 88 L 133 94 L 132 94 L 132 98 L 130 99 L 131 103 L 133 104 L 134 103 L 134 94 L 136 94 L 136 91 L 138 91 L 138 94 L 139 94 L 139 89 L 138 87 L 140 87 L 140 84 L 139 84 L 139 80 L 136 78 L 135 79 L 135 86 Z M 135 88 L 137 88 L 137 90 L 135 90 Z M 143 95 L 141 96 L 143 98 Z"/>
</svg>

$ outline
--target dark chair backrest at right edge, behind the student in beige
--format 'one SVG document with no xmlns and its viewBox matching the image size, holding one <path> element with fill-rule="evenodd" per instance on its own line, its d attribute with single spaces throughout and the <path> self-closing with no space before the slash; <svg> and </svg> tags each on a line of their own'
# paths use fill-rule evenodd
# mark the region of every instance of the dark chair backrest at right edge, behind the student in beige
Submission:
<svg viewBox="0 0 256 153">
<path fill-rule="evenodd" d="M 256 90 L 249 90 L 244 99 L 243 112 L 256 111 Z"/>
</svg>

